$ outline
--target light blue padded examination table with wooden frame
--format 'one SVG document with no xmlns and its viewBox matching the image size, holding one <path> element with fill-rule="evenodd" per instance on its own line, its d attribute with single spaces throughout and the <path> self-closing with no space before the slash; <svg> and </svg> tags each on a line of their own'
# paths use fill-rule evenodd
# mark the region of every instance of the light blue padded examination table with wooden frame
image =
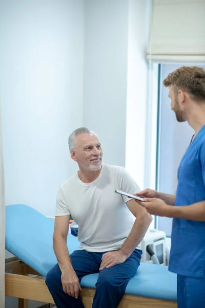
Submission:
<svg viewBox="0 0 205 308">
<path fill-rule="evenodd" d="M 29 299 L 54 303 L 45 284 L 46 274 L 57 262 L 53 230 L 54 222 L 35 209 L 24 204 L 6 206 L 6 249 L 15 257 L 6 259 L 5 294 L 19 298 L 19 308 L 27 308 Z M 71 254 L 79 242 L 69 233 L 67 245 Z M 97 276 L 81 280 L 86 308 L 92 307 Z M 165 265 L 141 262 L 118 307 L 176 308 L 176 275 Z"/>
</svg>

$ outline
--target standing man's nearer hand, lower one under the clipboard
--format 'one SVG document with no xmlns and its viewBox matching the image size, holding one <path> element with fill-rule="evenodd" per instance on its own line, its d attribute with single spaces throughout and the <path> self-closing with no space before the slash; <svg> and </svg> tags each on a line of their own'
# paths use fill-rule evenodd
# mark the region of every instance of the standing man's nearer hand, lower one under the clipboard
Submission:
<svg viewBox="0 0 205 308">
<path fill-rule="evenodd" d="M 137 200 L 136 200 L 137 201 Z M 165 201 L 157 198 L 144 198 L 144 201 L 137 201 L 144 206 L 148 213 L 157 216 L 171 217 L 173 206 L 168 205 Z"/>
</svg>

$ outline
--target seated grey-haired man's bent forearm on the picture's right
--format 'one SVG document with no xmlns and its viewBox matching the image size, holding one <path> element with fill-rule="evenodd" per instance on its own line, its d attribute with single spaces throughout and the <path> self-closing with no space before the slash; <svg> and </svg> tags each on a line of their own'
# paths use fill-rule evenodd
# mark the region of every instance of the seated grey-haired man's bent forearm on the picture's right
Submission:
<svg viewBox="0 0 205 308">
<path fill-rule="evenodd" d="M 151 221 L 152 217 L 150 215 L 142 216 L 141 218 L 138 217 L 135 220 L 127 240 L 120 248 L 122 253 L 124 253 L 127 258 L 132 254 L 134 249 L 139 245 L 141 240 L 144 238 Z"/>
</svg>

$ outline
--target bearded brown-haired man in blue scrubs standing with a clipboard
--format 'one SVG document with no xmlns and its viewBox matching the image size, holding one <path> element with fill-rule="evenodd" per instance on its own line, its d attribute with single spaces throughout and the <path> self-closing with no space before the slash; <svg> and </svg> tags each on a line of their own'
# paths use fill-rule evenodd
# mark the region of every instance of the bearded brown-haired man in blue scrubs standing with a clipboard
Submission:
<svg viewBox="0 0 205 308">
<path fill-rule="evenodd" d="M 136 195 L 145 197 L 140 204 L 150 214 L 173 218 L 169 270 L 177 274 L 178 308 L 204 308 L 205 70 L 183 66 L 163 85 L 176 120 L 188 121 L 195 133 L 178 167 L 176 196 L 149 188 Z"/>
</svg>

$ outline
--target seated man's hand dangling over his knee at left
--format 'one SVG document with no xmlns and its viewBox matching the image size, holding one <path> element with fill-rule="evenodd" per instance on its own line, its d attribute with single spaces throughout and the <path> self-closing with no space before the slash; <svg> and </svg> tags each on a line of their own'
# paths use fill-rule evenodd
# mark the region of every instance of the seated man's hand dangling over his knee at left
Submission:
<svg viewBox="0 0 205 308">
<path fill-rule="evenodd" d="M 64 269 L 61 271 L 61 282 L 65 293 L 78 298 L 78 293 L 82 290 L 74 269 Z"/>
</svg>

